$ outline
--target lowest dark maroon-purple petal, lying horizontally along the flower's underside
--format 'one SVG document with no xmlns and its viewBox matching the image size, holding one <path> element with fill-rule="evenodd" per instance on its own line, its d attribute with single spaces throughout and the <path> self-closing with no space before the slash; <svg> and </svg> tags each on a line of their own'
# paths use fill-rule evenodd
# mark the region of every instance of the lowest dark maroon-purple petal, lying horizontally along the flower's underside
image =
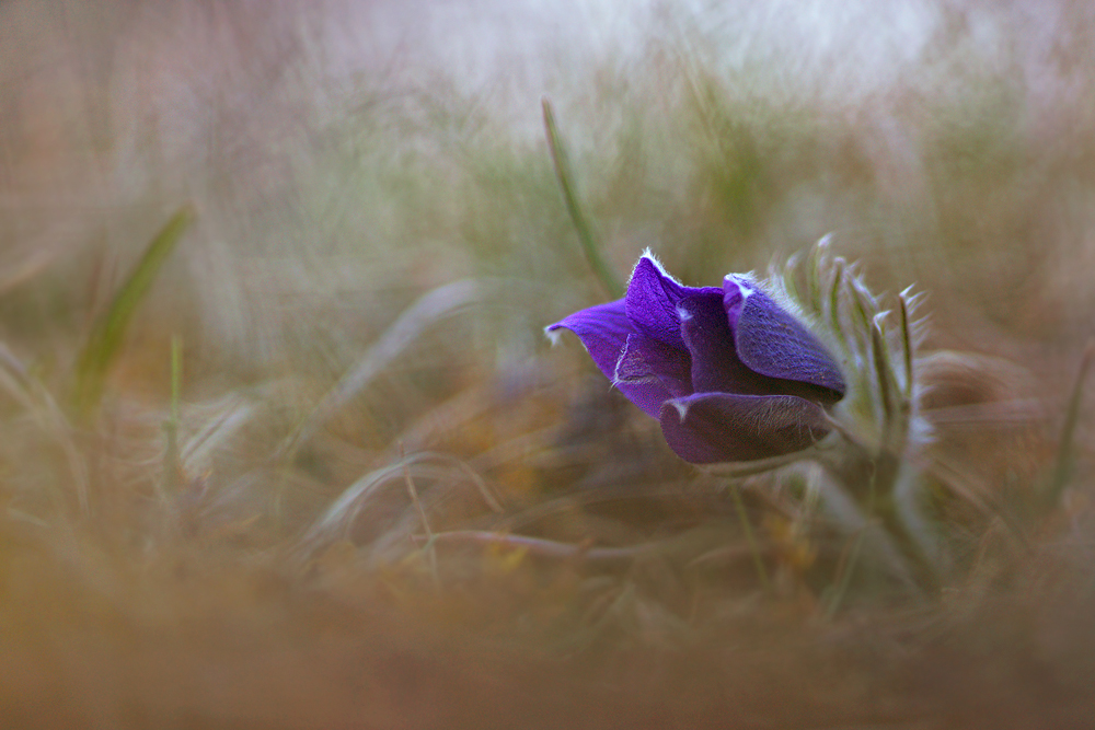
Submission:
<svg viewBox="0 0 1095 730">
<path fill-rule="evenodd" d="M 825 412 L 794 395 L 696 393 L 668 401 L 666 441 L 693 464 L 753 461 L 806 449 L 825 436 Z"/>
</svg>

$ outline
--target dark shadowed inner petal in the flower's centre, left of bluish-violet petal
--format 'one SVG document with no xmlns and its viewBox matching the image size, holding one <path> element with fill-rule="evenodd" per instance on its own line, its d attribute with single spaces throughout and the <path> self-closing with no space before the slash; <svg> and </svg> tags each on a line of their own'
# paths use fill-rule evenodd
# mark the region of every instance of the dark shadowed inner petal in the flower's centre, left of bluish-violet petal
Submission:
<svg viewBox="0 0 1095 730">
<path fill-rule="evenodd" d="M 692 356 L 692 392 L 745 395 L 787 392 L 782 381 L 753 372 L 738 358 L 722 291 L 685 297 L 677 311 L 681 335 Z"/>
</svg>

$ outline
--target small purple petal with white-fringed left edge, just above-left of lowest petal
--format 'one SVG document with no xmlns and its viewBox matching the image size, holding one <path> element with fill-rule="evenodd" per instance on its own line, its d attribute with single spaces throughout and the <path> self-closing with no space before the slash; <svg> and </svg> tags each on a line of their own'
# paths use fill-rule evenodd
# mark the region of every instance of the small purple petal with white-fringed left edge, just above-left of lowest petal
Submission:
<svg viewBox="0 0 1095 730">
<path fill-rule="evenodd" d="M 647 415 L 657 418 L 662 403 L 692 393 L 690 366 L 687 350 L 635 333 L 627 336 L 612 384 Z"/>
</svg>

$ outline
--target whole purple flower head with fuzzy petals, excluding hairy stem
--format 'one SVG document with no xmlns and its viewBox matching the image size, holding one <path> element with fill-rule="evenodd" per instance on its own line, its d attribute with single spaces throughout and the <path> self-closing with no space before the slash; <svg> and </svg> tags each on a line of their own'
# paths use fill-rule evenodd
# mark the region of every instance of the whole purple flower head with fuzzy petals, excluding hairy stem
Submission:
<svg viewBox="0 0 1095 730">
<path fill-rule="evenodd" d="M 845 392 L 825 346 L 748 276 L 684 287 L 644 254 L 623 299 L 548 333 L 560 328 L 694 464 L 806 449 L 829 431 L 825 408 Z"/>
</svg>

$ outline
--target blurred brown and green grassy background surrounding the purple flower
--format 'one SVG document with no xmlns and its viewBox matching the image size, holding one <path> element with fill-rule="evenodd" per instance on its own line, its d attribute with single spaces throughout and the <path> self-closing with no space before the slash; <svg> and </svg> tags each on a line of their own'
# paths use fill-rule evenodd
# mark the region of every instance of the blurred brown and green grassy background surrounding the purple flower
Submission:
<svg viewBox="0 0 1095 730">
<path fill-rule="evenodd" d="M 0 5 L 0 725 L 1095 718 L 1095 14 L 619 4 Z M 929 292 L 940 594 L 549 347 L 544 93 L 621 276 Z"/>
</svg>

